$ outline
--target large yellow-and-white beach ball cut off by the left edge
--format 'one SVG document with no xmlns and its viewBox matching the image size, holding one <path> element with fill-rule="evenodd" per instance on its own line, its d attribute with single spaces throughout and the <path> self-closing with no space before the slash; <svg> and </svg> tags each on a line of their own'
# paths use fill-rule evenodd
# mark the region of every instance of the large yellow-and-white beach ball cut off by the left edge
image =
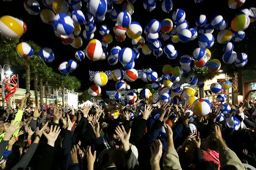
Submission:
<svg viewBox="0 0 256 170">
<path fill-rule="evenodd" d="M 26 24 L 25 24 L 26 25 Z M 0 35 L 6 40 L 17 40 L 24 33 L 24 25 L 12 16 L 2 16 L 0 18 Z"/>
</svg>

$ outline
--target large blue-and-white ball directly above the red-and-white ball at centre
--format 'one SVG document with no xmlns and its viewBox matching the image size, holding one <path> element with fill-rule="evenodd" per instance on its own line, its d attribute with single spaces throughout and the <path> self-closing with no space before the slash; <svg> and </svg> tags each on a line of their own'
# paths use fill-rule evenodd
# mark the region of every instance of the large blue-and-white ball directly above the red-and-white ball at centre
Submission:
<svg viewBox="0 0 256 170">
<path fill-rule="evenodd" d="M 118 60 L 123 64 L 128 64 L 134 61 L 134 52 L 128 47 L 122 48 L 118 53 Z"/>
</svg>

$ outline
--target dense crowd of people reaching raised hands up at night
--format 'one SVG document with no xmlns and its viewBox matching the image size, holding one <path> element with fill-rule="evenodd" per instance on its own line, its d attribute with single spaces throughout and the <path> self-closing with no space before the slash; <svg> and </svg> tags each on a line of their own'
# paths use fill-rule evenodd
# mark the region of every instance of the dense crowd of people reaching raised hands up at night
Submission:
<svg viewBox="0 0 256 170">
<path fill-rule="evenodd" d="M 254 104 L 232 106 L 234 130 L 209 115 L 187 114 L 190 106 L 159 102 L 106 109 L 46 106 L 0 108 L 2 170 L 252 170 L 256 167 Z M 119 111 L 118 118 L 111 113 Z M 158 116 L 156 116 L 158 115 Z M 191 118 L 193 117 L 193 119 Z M 189 124 L 193 121 L 196 130 Z M 167 123 L 167 122 L 172 122 Z M 245 168 L 251 167 L 251 168 Z"/>
</svg>

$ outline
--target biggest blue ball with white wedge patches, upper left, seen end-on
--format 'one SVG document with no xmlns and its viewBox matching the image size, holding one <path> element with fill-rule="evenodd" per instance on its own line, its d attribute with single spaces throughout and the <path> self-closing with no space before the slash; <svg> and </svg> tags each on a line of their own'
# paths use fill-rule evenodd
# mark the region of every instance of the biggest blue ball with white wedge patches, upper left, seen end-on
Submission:
<svg viewBox="0 0 256 170">
<path fill-rule="evenodd" d="M 74 31 L 74 22 L 70 16 L 64 13 L 54 16 L 52 25 L 54 31 L 59 35 L 69 35 Z"/>
</svg>

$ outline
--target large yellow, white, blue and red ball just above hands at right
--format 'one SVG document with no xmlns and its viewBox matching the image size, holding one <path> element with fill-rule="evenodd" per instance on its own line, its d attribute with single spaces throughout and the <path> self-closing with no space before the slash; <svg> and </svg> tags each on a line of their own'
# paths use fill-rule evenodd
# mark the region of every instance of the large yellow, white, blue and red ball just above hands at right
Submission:
<svg viewBox="0 0 256 170">
<path fill-rule="evenodd" d="M 210 113 L 212 105 L 209 100 L 199 98 L 194 101 L 192 108 L 195 114 L 204 116 Z"/>
</svg>

